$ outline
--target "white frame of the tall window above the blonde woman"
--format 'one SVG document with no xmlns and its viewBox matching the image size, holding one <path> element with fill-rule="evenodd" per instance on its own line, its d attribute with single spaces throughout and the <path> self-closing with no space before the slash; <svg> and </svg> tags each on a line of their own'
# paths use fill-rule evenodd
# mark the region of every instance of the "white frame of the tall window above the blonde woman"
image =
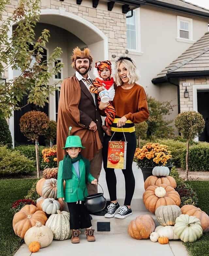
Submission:
<svg viewBox="0 0 209 256">
<path fill-rule="evenodd" d="M 140 8 L 133 10 L 135 13 L 135 26 L 136 26 L 136 49 L 128 49 L 132 55 L 142 55 L 141 52 L 141 28 L 140 28 Z"/>
</svg>

